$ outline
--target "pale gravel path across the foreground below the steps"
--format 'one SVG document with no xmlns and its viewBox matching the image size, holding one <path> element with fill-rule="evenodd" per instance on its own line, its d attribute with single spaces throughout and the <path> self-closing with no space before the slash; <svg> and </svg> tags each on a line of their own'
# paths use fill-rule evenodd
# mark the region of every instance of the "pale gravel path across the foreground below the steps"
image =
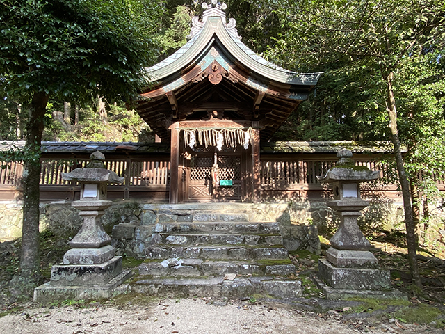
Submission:
<svg viewBox="0 0 445 334">
<path fill-rule="evenodd" d="M 302 313 L 248 302 L 216 305 L 203 299 L 162 300 L 143 305 L 91 304 L 88 308 L 29 308 L 19 315 L 0 318 L 0 333 L 8 334 L 350 334 L 444 333 L 426 326 L 406 324 L 342 323 L 314 313 Z"/>
</svg>

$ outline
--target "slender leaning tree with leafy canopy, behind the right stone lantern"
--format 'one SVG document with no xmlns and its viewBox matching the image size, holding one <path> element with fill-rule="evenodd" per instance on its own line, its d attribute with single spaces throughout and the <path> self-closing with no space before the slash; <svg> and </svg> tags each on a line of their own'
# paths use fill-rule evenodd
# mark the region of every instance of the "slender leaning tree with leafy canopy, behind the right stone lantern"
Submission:
<svg viewBox="0 0 445 334">
<path fill-rule="evenodd" d="M 387 114 L 398 180 L 403 193 L 407 249 L 413 281 L 421 287 L 416 262 L 416 234 L 410 180 L 402 156 L 398 79 L 405 61 L 437 52 L 444 41 L 445 4 L 439 0 L 294 1 L 275 7 L 283 32 L 268 56 L 296 70 L 323 64 L 351 72 L 371 72 L 373 100 Z M 442 62 L 439 53 L 438 62 Z M 367 85 L 369 86 L 369 85 Z"/>
</svg>

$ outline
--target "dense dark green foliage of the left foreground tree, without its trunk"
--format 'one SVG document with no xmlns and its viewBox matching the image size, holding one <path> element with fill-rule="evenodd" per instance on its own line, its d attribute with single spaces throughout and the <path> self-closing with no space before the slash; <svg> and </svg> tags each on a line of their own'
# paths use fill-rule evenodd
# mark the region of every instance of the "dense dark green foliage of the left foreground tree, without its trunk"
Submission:
<svg viewBox="0 0 445 334">
<path fill-rule="evenodd" d="M 144 84 L 159 13 L 157 1 L 2 0 L 4 89 L 17 97 L 129 100 Z"/>
</svg>

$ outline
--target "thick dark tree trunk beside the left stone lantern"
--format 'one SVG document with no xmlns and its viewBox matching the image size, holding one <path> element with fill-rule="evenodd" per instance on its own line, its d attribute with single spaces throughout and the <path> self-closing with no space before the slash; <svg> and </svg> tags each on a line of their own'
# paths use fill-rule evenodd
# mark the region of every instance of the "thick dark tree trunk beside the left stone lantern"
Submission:
<svg viewBox="0 0 445 334">
<path fill-rule="evenodd" d="M 44 128 L 44 113 L 48 96 L 34 93 L 26 126 L 26 148 L 23 171 L 22 254 L 19 276 L 31 277 L 40 270 L 39 202 L 40 202 L 40 143 Z"/>
</svg>

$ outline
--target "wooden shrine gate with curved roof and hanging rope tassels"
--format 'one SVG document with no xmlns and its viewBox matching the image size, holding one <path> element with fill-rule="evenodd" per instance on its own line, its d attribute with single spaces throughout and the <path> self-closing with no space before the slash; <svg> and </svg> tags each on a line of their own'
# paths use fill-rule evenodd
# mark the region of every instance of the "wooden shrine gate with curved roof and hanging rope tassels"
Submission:
<svg viewBox="0 0 445 334">
<path fill-rule="evenodd" d="M 138 113 L 170 143 L 170 203 L 259 202 L 259 143 L 267 141 L 320 73 L 284 70 L 241 42 L 225 4 L 203 3 L 189 40 L 147 68 Z"/>
</svg>

